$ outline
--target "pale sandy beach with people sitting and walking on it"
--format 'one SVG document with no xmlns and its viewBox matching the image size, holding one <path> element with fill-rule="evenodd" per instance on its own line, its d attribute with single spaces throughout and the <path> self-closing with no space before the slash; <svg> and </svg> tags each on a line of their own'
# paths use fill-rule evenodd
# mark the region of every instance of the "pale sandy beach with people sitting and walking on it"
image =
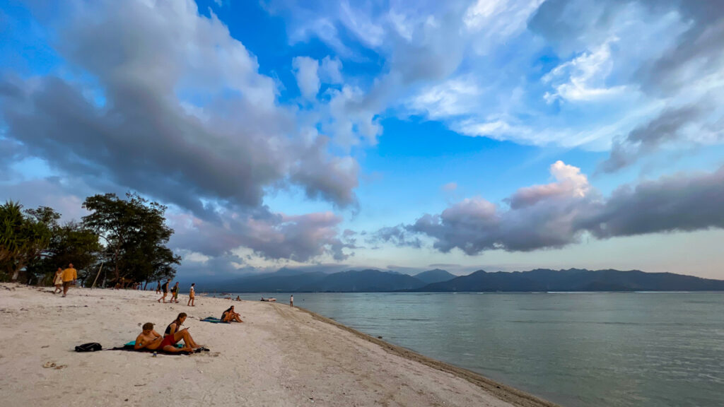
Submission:
<svg viewBox="0 0 724 407">
<path fill-rule="evenodd" d="M 455 366 L 281 303 L 197 296 L 156 303 L 150 291 L 0 285 L 3 406 L 555 406 Z M 170 297 L 170 295 L 169 295 Z M 209 324 L 235 305 L 243 324 Z M 77 353 L 163 332 L 179 312 L 190 356 Z M 54 366 L 51 366 L 54 364 Z M 44 367 L 51 366 L 51 367 Z"/>
</svg>

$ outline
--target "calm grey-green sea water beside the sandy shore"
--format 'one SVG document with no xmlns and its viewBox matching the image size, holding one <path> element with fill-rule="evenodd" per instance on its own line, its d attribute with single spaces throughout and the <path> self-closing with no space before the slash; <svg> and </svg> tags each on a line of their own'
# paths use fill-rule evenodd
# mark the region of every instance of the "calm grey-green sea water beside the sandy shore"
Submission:
<svg viewBox="0 0 724 407">
<path fill-rule="evenodd" d="M 240 294 L 261 295 L 289 300 Z M 724 293 L 297 293 L 295 305 L 562 406 L 724 406 Z"/>
</svg>

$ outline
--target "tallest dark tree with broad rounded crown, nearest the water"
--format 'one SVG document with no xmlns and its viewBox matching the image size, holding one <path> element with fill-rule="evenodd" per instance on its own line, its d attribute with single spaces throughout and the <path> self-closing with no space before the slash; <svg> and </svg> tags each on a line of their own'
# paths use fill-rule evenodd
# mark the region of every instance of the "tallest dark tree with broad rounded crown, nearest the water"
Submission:
<svg viewBox="0 0 724 407">
<path fill-rule="evenodd" d="M 126 200 L 114 193 L 85 198 L 83 208 L 91 214 L 83 217 L 83 225 L 93 230 L 106 245 L 106 267 L 114 282 L 147 281 L 173 277 L 174 264 L 180 257 L 167 248 L 173 230 L 165 225 L 167 207 L 127 193 Z"/>
</svg>

